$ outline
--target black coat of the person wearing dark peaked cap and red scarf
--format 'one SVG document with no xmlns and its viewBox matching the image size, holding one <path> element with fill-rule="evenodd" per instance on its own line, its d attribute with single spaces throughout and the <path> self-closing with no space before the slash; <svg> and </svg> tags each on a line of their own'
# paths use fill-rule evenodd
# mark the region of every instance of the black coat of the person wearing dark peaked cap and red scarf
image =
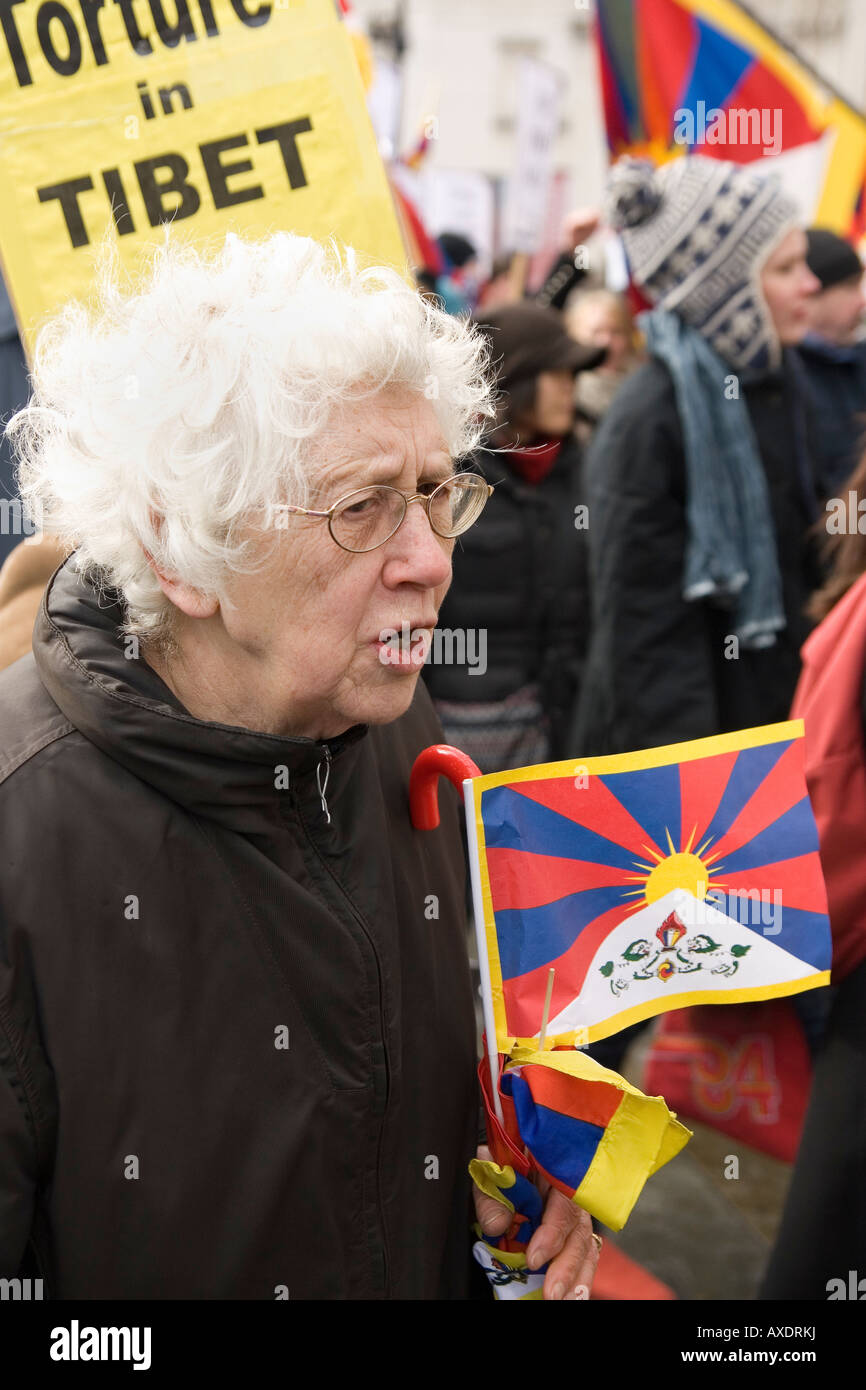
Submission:
<svg viewBox="0 0 866 1390">
<path fill-rule="evenodd" d="M 589 619 L 580 445 L 570 438 L 539 484 L 524 482 L 505 455 L 482 452 L 475 463 L 496 491 L 456 542 L 439 627 L 487 631 L 487 671 L 431 660 L 424 677 L 434 699 L 467 703 L 502 701 L 538 681 L 550 756 L 564 758 Z"/>
</svg>

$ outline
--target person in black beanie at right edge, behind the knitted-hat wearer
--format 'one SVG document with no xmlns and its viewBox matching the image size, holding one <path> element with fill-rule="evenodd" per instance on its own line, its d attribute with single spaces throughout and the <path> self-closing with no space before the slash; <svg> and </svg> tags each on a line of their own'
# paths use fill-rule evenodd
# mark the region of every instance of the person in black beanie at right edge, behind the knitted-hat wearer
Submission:
<svg viewBox="0 0 866 1390">
<path fill-rule="evenodd" d="M 809 334 L 799 345 L 805 386 L 816 420 L 819 486 L 834 496 L 856 467 L 866 431 L 863 265 L 844 238 L 812 227 L 806 260 L 822 284 L 809 306 Z"/>
</svg>

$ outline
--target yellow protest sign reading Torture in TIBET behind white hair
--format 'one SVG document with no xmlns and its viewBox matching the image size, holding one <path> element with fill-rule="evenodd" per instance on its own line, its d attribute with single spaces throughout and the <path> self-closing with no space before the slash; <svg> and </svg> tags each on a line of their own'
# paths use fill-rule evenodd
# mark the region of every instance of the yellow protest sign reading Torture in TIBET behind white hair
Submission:
<svg viewBox="0 0 866 1390">
<path fill-rule="evenodd" d="M 0 0 L 0 257 L 32 346 L 95 252 L 336 236 L 405 267 L 332 0 Z"/>
</svg>

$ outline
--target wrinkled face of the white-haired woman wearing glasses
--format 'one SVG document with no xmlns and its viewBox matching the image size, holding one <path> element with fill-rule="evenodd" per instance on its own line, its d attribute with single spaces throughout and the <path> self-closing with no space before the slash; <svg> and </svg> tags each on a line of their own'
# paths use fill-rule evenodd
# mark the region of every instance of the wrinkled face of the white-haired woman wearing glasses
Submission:
<svg viewBox="0 0 866 1390">
<path fill-rule="evenodd" d="M 420 492 L 455 471 L 431 403 L 381 392 L 332 420 L 309 505 L 325 510 L 377 482 Z M 455 542 L 435 535 L 417 502 L 395 535 L 364 555 L 342 550 L 327 520 L 291 514 L 279 525 L 267 566 L 235 575 L 231 605 L 221 605 L 227 638 L 272 712 L 268 723 L 277 733 L 332 738 L 352 724 L 398 719 L 424 666 Z M 386 645 L 395 631 L 413 634 L 407 651 Z"/>
</svg>

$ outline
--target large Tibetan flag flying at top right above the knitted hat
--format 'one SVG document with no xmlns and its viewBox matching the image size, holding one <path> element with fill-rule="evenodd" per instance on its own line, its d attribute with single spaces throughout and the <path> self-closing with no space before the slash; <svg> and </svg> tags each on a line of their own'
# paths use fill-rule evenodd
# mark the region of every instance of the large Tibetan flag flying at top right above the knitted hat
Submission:
<svg viewBox="0 0 866 1390">
<path fill-rule="evenodd" d="M 612 157 L 778 171 L 808 221 L 860 231 L 866 120 L 734 0 L 598 0 Z"/>
</svg>

